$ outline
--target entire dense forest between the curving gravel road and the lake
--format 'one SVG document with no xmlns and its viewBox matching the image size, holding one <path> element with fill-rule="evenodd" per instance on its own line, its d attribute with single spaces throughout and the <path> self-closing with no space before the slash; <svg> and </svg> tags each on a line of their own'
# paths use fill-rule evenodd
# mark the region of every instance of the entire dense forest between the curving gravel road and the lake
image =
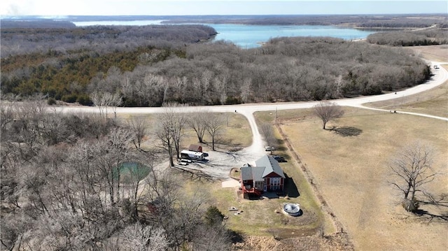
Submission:
<svg viewBox="0 0 448 251">
<path fill-rule="evenodd" d="M 337 38 L 275 38 L 244 50 L 202 25 L 2 29 L 1 93 L 124 106 L 308 101 L 419 85 L 430 69 L 410 52 Z"/>
</svg>

